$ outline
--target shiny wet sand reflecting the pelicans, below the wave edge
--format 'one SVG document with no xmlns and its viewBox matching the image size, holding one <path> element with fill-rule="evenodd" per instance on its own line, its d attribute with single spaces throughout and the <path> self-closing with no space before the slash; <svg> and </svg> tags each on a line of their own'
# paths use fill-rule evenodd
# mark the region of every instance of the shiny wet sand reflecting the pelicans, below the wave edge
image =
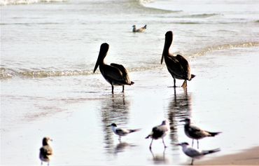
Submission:
<svg viewBox="0 0 259 166">
<path fill-rule="evenodd" d="M 135 84 L 125 86 L 124 94 L 116 86 L 111 95 L 101 74 L 1 83 L 1 165 L 39 165 L 38 148 L 45 136 L 54 140 L 50 165 L 188 165 L 190 158 L 175 146 L 191 143 L 179 122 L 186 117 L 204 130 L 223 132 L 200 140 L 200 149 L 221 151 L 195 160 L 195 165 L 212 165 L 203 161 L 259 146 L 258 52 L 259 48 L 232 48 L 190 59 L 196 77 L 188 81 L 187 91 L 169 88 L 173 79 L 165 64 L 153 71 L 130 72 Z M 10 99 L 14 102 L 8 105 Z M 168 148 L 164 151 L 158 140 L 151 152 L 151 140 L 144 138 L 165 118 L 171 125 L 165 137 Z M 106 127 L 111 123 L 141 131 L 123 137 L 120 144 Z M 239 163 L 251 161 L 247 156 Z"/>
</svg>

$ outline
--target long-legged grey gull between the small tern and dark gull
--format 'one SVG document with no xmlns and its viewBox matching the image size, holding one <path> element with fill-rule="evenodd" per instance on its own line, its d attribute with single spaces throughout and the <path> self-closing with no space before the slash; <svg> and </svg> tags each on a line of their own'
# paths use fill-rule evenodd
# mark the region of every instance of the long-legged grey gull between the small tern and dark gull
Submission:
<svg viewBox="0 0 259 166">
<path fill-rule="evenodd" d="M 153 139 L 162 139 L 163 144 L 165 146 L 165 141 L 164 137 L 167 135 L 167 133 L 170 131 L 170 126 L 169 126 L 169 121 L 168 120 L 163 120 L 161 125 L 157 125 L 153 127 L 151 134 L 149 134 L 146 139 L 151 137 L 151 144 L 149 148 L 151 149 Z M 165 146 L 167 148 L 167 146 Z"/>
</svg>

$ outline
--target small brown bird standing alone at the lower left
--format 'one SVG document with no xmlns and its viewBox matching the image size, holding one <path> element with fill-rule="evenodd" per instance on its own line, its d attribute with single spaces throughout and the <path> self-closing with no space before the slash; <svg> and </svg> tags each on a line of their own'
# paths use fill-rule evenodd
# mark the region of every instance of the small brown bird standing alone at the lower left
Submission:
<svg viewBox="0 0 259 166">
<path fill-rule="evenodd" d="M 52 148 L 50 147 L 49 141 L 52 141 L 49 137 L 44 137 L 42 140 L 42 147 L 40 148 L 40 155 L 39 158 L 41 159 L 41 165 L 44 162 L 48 162 L 50 165 L 50 159 L 52 158 L 53 152 Z"/>
</svg>

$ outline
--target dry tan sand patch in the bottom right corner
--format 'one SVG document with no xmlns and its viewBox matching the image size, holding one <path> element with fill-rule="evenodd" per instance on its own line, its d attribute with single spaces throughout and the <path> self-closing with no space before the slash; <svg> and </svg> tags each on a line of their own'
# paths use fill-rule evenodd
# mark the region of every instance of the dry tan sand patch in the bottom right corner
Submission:
<svg viewBox="0 0 259 166">
<path fill-rule="evenodd" d="M 210 160 L 197 160 L 195 165 L 259 165 L 259 146 Z"/>
</svg>

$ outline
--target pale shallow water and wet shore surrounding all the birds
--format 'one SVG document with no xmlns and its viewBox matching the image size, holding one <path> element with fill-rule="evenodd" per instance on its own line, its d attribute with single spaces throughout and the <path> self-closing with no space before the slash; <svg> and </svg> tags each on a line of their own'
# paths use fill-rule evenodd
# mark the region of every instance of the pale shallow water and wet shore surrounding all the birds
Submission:
<svg viewBox="0 0 259 166">
<path fill-rule="evenodd" d="M 200 141 L 201 148 L 221 148 L 211 157 L 258 146 L 258 1 L 245 7 L 217 2 L 1 6 L 1 165 L 39 164 L 45 136 L 54 139 L 50 165 L 186 164 L 190 160 L 174 146 L 190 143 L 179 123 L 185 117 L 223 132 Z M 133 34 L 133 24 L 148 29 Z M 172 77 L 160 65 L 167 30 L 174 31 L 172 52 L 187 57 L 197 75 L 187 92 L 169 88 Z M 110 44 L 106 61 L 123 64 L 135 82 L 124 94 L 116 87 L 111 95 L 102 75 L 92 74 L 104 42 Z M 144 138 L 165 118 L 169 148 L 164 153 L 162 140 L 154 141 L 151 153 Z M 111 123 L 141 131 L 119 144 L 106 127 Z"/>
</svg>

